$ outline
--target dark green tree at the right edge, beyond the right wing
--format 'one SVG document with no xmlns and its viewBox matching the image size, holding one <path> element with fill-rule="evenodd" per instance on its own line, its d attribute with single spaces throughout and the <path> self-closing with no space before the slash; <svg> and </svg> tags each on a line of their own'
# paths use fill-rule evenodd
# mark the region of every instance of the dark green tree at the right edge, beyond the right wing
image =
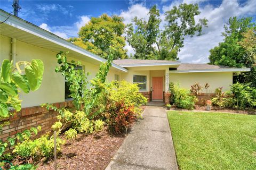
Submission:
<svg viewBox="0 0 256 170">
<path fill-rule="evenodd" d="M 255 23 L 252 18 L 229 18 L 224 25 L 223 42 L 210 50 L 210 64 L 225 65 L 229 67 L 250 67 L 251 72 L 236 74 L 234 82 L 252 82 L 256 86 L 255 69 Z M 254 43 L 253 43 L 254 41 Z M 254 55 L 253 55 L 254 53 Z M 254 77 L 254 78 L 253 78 Z"/>
</svg>

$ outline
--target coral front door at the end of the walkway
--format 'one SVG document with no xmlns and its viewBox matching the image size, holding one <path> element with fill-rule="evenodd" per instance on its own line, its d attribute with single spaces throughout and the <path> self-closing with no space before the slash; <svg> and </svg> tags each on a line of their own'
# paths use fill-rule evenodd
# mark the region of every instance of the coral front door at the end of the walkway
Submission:
<svg viewBox="0 0 256 170">
<path fill-rule="evenodd" d="M 152 78 L 152 99 L 163 100 L 163 77 Z"/>
</svg>

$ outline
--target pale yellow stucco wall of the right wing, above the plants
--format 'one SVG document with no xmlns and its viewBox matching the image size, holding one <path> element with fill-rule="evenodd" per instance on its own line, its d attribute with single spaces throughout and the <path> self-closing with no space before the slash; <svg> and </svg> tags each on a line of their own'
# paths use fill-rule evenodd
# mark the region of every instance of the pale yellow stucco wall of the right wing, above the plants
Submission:
<svg viewBox="0 0 256 170">
<path fill-rule="evenodd" d="M 214 93 L 218 87 L 223 87 L 223 91 L 229 90 L 229 85 L 233 83 L 232 72 L 207 72 L 207 73 L 170 73 L 170 82 L 179 83 L 180 87 L 190 89 L 196 82 L 202 86 L 207 82 L 210 87 L 208 92 Z M 202 92 L 205 92 L 203 90 Z"/>
</svg>

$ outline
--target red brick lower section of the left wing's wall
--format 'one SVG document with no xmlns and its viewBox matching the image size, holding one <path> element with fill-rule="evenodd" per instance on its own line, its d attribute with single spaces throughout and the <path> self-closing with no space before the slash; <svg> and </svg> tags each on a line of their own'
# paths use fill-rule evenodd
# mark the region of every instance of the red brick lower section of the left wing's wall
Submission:
<svg viewBox="0 0 256 170">
<path fill-rule="evenodd" d="M 72 101 L 65 101 L 62 103 L 55 103 L 56 107 L 72 107 Z M 18 132 L 25 131 L 31 127 L 41 126 L 42 131 L 33 137 L 39 138 L 42 134 L 51 131 L 51 126 L 57 121 L 56 116 L 58 112 L 53 110 L 47 111 L 46 108 L 41 106 L 22 108 L 21 111 L 15 112 L 14 116 L 4 120 L 9 121 L 10 124 L 3 127 L 3 131 L 0 135 L 0 139 L 7 140 L 7 137 L 15 137 Z M 2 121 L 1 124 L 4 122 Z M 10 151 L 13 147 L 6 148 L 6 151 Z"/>
</svg>

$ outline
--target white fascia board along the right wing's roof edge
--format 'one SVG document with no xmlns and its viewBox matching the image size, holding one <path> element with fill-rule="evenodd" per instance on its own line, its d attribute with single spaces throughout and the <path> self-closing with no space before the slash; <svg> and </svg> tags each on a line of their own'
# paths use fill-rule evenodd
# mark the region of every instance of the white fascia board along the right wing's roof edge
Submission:
<svg viewBox="0 0 256 170">
<path fill-rule="evenodd" d="M 249 72 L 250 68 L 243 69 L 204 69 L 204 70 L 170 70 L 170 73 L 200 73 L 200 72 Z"/>
</svg>

